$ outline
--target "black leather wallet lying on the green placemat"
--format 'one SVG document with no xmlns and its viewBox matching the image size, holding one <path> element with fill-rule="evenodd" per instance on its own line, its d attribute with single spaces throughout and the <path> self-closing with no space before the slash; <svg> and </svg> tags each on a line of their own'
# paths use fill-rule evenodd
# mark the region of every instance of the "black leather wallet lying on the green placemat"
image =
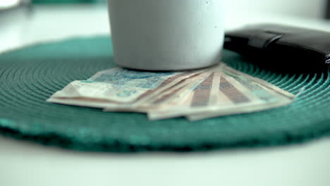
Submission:
<svg viewBox="0 0 330 186">
<path fill-rule="evenodd" d="M 317 73 L 330 66 L 330 32 L 302 27 L 248 25 L 226 32 L 224 48 L 285 73 Z"/>
</svg>

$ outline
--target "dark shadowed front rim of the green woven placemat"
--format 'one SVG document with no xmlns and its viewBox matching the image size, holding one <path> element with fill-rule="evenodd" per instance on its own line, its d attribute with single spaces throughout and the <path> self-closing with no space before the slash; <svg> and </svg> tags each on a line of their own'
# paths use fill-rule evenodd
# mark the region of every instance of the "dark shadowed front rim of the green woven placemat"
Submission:
<svg viewBox="0 0 330 186">
<path fill-rule="evenodd" d="M 65 149 L 76 151 L 108 151 L 115 153 L 131 153 L 142 151 L 209 151 L 222 149 L 238 149 L 238 148 L 259 148 L 259 147 L 277 147 L 282 145 L 301 144 L 303 142 L 310 142 L 318 140 L 322 137 L 330 137 L 330 118 L 327 120 L 314 123 L 318 128 L 296 128 L 291 132 L 276 132 L 268 134 L 267 138 L 262 139 L 256 137 L 255 139 L 240 140 L 237 142 L 213 142 L 213 144 L 195 144 L 192 146 L 167 146 L 159 145 L 158 147 L 149 145 L 130 144 L 130 142 L 119 142 L 116 139 L 108 139 L 92 144 L 90 141 L 81 143 L 81 140 L 74 140 L 72 137 L 59 135 L 55 132 L 36 132 L 36 131 L 20 131 L 18 128 L 13 128 L 11 125 L 20 125 L 20 123 L 8 119 L 0 119 L 0 134 L 5 137 L 11 137 L 17 140 L 29 140 L 30 142 L 37 142 L 44 146 L 63 147 Z M 271 139 L 271 140 L 267 140 Z"/>
</svg>

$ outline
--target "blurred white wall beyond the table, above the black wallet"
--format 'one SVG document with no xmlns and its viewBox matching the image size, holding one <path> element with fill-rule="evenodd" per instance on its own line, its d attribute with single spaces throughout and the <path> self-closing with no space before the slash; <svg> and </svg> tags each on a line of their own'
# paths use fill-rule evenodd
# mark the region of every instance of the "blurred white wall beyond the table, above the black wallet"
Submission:
<svg viewBox="0 0 330 186">
<path fill-rule="evenodd" d="M 326 0 L 224 0 L 226 15 L 274 13 L 282 16 L 323 18 Z"/>
</svg>

